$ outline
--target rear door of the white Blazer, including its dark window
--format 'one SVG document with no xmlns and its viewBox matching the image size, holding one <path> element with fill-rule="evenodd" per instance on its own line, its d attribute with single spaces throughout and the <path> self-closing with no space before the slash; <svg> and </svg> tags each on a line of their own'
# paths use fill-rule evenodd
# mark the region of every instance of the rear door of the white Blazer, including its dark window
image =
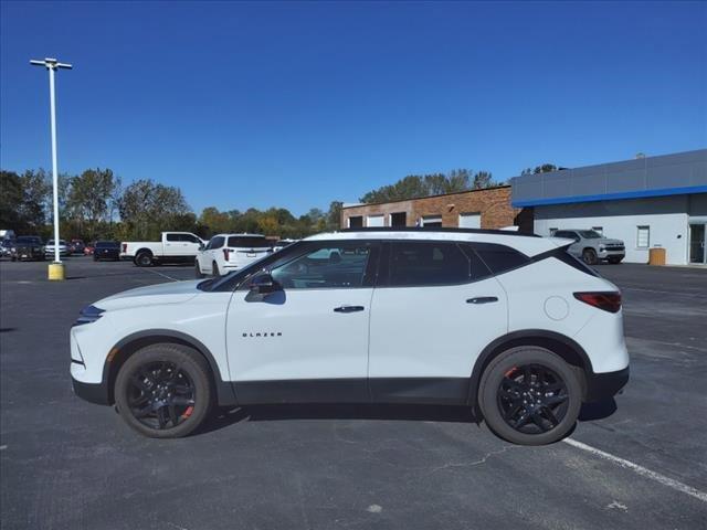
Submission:
<svg viewBox="0 0 707 530">
<path fill-rule="evenodd" d="M 476 358 L 507 329 L 506 293 L 469 245 L 387 244 L 371 304 L 371 399 L 464 403 Z"/>
</svg>

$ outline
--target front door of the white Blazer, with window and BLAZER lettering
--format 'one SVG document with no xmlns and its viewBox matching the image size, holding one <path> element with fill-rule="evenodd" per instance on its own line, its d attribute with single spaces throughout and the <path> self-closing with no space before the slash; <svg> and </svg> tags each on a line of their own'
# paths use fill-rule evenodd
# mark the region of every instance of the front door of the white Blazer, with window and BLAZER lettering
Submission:
<svg viewBox="0 0 707 530">
<path fill-rule="evenodd" d="M 273 264 L 279 290 L 234 292 L 226 348 L 240 403 L 368 401 L 377 256 L 377 243 L 308 242 Z"/>
</svg>

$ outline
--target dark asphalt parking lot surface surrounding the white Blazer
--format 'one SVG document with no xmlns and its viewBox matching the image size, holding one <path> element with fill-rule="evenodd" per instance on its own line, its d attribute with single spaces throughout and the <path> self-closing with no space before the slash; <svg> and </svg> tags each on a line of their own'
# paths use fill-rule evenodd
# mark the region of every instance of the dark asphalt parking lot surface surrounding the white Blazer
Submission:
<svg viewBox="0 0 707 530">
<path fill-rule="evenodd" d="M 465 411 L 270 406 L 178 441 L 75 398 L 81 307 L 190 267 L 0 263 L 4 530 L 707 527 L 707 269 L 622 264 L 632 380 L 570 438 L 509 445 Z"/>
</svg>

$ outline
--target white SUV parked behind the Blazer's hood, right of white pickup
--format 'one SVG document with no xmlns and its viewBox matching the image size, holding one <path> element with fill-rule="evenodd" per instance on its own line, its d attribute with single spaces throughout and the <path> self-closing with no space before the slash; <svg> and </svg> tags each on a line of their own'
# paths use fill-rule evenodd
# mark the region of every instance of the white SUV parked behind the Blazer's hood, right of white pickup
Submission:
<svg viewBox="0 0 707 530">
<path fill-rule="evenodd" d="M 197 255 L 197 277 L 221 276 L 273 253 L 273 243 L 260 234 L 218 234 Z"/>
</svg>

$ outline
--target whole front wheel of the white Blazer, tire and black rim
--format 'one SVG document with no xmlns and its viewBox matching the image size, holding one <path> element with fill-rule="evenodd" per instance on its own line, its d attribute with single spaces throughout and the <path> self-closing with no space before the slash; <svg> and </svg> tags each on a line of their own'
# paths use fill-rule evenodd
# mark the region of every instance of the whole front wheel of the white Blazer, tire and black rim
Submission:
<svg viewBox="0 0 707 530">
<path fill-rule="evenodd" d="M 168 401 L 172 401 L 171 410 Z M 209 416 L 213 402 L 207 360 L 182 344 L 141 348 L 123 364 L 115 381 L 120 416 L 133 430 L 151 438 L 191 434 Z M 140 413 L 146 415 L 138 417 Z"/>
</svg>

